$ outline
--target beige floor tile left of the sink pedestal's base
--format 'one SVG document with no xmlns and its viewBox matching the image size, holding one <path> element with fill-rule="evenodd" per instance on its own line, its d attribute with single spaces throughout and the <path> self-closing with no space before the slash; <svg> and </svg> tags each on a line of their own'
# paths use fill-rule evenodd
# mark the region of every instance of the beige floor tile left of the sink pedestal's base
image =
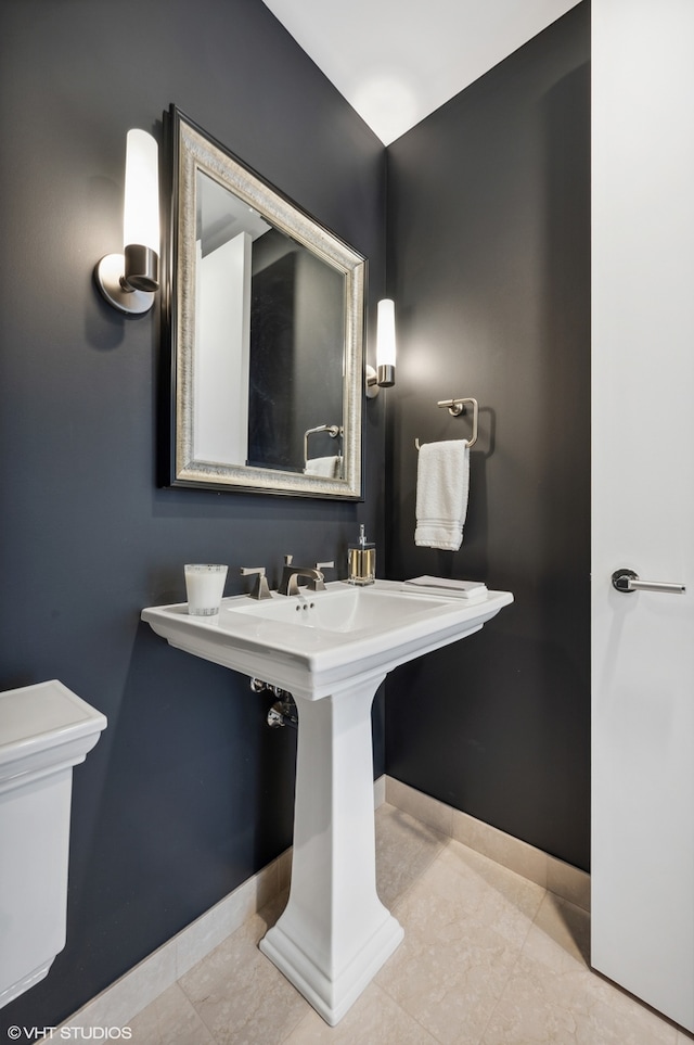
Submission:
<svg viewBox="0 0 694 1045">
<path fill-rule="evenodd" d="M 179 981 L 220 1045 L 282 1042 L 309 1010 L 308 1002 L 258 951 L 284 907 L 268 905 Z"/>
</svg>

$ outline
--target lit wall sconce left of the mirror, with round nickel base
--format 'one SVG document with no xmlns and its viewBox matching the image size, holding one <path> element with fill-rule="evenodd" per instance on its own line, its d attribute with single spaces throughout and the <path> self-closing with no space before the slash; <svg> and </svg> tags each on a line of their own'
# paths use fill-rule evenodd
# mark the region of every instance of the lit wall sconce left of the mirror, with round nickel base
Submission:
<svg viewBox="0 0 694 1045">
<path fill-rule="evenodd" d="M 159 173 L 157 144 L 144 130 L 129 130 L 123 209 L 124 254 L 106 254 L 97 265 L 97 285 L 121 313 L 152 308 L 159 289 Z"/>
</svg>

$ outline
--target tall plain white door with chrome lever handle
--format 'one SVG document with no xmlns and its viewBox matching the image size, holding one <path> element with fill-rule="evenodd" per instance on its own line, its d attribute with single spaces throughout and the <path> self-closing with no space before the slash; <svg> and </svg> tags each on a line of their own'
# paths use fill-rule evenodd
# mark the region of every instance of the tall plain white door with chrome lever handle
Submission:
<svg viewBox="0 0 694 1045">
<path fill-rule="evenodd" d="M 592 23 L 592 964 L 694 1030 L 694 0 Z"/>
</svg>

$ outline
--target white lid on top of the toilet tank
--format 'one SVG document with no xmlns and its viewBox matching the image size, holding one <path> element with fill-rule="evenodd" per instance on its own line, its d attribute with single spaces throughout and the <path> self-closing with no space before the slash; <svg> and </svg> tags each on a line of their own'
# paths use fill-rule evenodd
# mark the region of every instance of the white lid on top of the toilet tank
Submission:
<svg viewBox="0 0 694 1045">
<path fill-rule="evenodd" d="M 0 693 L 0 765 L 105 728 L 105 715 L 55 678 L 9 689 Z"/>
</svg>

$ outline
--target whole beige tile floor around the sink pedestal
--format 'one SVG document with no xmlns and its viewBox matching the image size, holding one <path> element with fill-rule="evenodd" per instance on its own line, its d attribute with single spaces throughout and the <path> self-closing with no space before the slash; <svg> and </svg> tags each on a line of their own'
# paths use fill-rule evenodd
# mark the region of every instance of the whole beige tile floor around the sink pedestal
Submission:
<svg viewBox="0 0 694 1045">
<path fill-rule="evenodd" d="M 685 1045 L 595 976 L 589 915 L 384 804 L 378 892 L 404 942 L 336 1028 L 258 951 L 280 896 L 130 1020 L 133 1045 Z"/>
</svg>

